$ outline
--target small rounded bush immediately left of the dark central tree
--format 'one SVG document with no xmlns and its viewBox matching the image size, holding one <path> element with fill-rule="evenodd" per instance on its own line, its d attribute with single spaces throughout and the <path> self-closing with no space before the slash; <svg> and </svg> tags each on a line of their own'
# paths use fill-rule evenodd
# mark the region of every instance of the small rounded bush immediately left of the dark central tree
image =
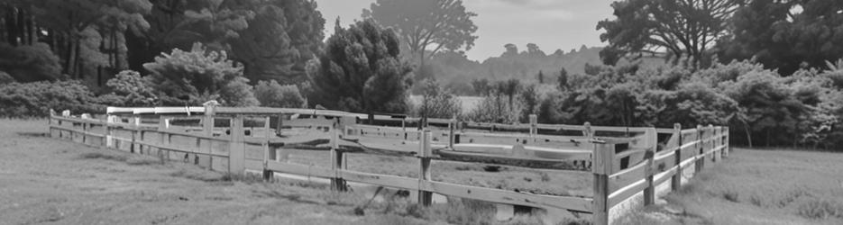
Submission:
<svg viewBox="0 0 843 225">
<path fill-rule="evenodd" d="M 307 108 L 307 101 L 296 85 L 280 85 L 275 80 L 259 81 L 254 95 L 261 106 L 280 108 Z"/>
</svg>

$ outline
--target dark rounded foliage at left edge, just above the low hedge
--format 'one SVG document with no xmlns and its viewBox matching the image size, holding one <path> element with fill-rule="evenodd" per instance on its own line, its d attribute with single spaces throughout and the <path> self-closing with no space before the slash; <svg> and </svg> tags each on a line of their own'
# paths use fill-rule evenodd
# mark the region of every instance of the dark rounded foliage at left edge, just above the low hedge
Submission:
<svg viewBox="0 0 843 225">
<path fill-rule="evenodd" d="M 0 42 L 0 70 L 20 82 L 59 79 L 59 57 L 44 43 L 14 47 Z"/>
</svg>

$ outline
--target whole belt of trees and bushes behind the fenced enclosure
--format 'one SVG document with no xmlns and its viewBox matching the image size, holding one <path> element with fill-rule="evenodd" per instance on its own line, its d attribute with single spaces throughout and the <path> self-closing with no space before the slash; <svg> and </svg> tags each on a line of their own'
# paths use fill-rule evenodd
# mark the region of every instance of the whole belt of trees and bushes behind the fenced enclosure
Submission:
<svg viewBox="0 0 843 225">
<path fill-rule="evenodd" d="M 607 46 L 507 44 L 474 61 L 465 52 L 482 37 L 461 0 L 377 0 L 349 26 L 312 0 L 5 0 L 0 115 L 216 100 L 472 121 L 536 113 L 545 123 L 715 124 L 731 128 L 734 144 L 843 148 L 843 2 L 609 6 L 614 15 L 595 22 Z M 465 96 L 479 100 L 463 106 Z"/>
</svg>

